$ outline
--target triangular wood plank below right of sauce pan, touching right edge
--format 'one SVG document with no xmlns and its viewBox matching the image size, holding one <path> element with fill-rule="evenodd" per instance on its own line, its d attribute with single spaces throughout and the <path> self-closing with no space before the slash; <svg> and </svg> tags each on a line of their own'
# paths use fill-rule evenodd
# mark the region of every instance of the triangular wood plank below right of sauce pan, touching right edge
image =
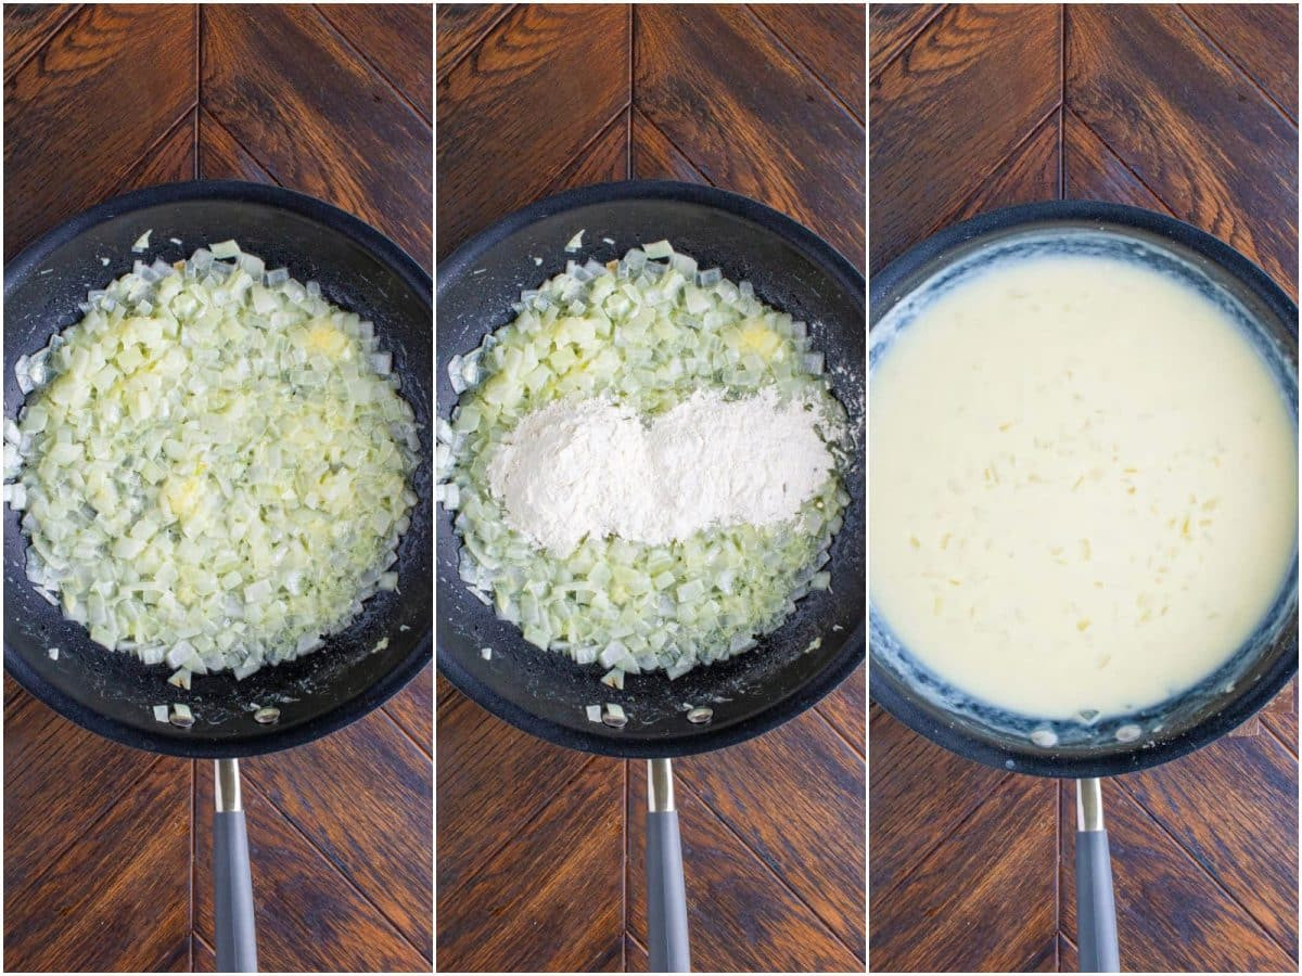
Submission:
<svg viewBox="0 0 1302 976">
<path fill-rule="evenodd" d="M 1225 738 L 1122 783 L 1297 956 L 1298 768 L 1280 743 Z"/>
</svg>

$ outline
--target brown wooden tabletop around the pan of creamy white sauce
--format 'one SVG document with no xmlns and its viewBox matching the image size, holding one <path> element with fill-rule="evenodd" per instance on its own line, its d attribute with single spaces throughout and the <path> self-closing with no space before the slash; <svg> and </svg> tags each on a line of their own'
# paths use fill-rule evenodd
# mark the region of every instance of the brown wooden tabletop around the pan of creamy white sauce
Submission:
<svg viewBox="0 0 1302 976">
<path fill-rule="evenodd" d="M 1056 198 L 1164 211 L 1297 297 L 1295 7 L 872 7 L 870 271 Z M 876 971 L 1075 969 L 1074 787 L 870 714 Z M 1295 686 L 1104 783 L 1128 969 L 1294 971 Z"/>
</svg>

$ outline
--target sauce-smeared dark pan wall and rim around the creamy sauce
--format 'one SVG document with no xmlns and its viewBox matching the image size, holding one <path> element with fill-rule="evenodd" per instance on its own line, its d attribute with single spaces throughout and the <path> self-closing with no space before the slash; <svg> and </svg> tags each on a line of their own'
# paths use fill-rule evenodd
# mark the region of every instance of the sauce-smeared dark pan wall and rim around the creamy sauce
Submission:
<svg viewBox="0 0 1302 976">
<path fill-rule="evenodd" d="M 1013 207 L 924 241 L 872 278 L 871 362 L 888 354 L 911 311 L 947 281 L 979 272 L 1004 254 L 1036 249 L 1135 260 L 1199 289 L 1258 346 L 1297 420 L 1297 306 L 1260 268 L 1220 241 L 1164 215 L 1116 204 L 1066 200 Z M 879 328 L 892 312 L 888 328 Z M 915 731 L 988 765 L 1056 777 L 1133 772 L 1229 731 L 1297 673 L 1297 587 L 1294 549 L 1273 606 L 1229 661 L 1164 703 L 1091 725 L 1036 721 L 963 695 L 913 658 L 876 609 L 870 625 L 870 690 Z M 1030 738 L 1032 733 L 1043 744 Z"/>
</svg>

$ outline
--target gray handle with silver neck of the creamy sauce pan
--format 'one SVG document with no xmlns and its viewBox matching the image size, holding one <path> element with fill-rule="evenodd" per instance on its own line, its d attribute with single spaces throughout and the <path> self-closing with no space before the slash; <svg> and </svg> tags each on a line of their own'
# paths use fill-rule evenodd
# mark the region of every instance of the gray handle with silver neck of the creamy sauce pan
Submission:
<svg viewBox="0 0 1302 976">
<path fill-rule="evenodd" d="M 1112 897 L 1112 856 L 1103 826 L 1098 779 L 1075 782 L 1075 943 L 1081 972 L 1121 972 L 1117 906 Z"/>
</svg>

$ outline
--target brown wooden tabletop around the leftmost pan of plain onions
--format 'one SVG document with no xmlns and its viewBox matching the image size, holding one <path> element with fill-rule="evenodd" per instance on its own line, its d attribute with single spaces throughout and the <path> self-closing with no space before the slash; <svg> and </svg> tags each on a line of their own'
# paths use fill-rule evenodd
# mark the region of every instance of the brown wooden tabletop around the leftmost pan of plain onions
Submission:
<svg viewBox="0 0 1302 976">
<path fill-rule="evenodd" d="M 428 7 L 5 8 L 5 256 L 194 177 L 324 198 L 432 264 Z M 432 669 L 431 669 L 432 670 Z M 259 963 L 432 964 L 432 673 L 246 760 Z M 212 766 L 74 726 L 8 677 L 5 968 L 214 967 Z"/>
</svg>

